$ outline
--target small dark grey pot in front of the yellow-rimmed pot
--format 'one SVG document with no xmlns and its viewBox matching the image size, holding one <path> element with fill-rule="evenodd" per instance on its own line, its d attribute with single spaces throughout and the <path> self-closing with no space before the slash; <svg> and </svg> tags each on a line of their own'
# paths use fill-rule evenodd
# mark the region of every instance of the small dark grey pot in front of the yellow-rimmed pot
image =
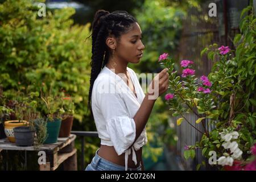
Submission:
<svg viewBox="0 0 256 182">
<path fill-rule="evenodd" d="M 15 143 L 17 146 L 32 146 L 34 145 L 35 131 L 32 131 L 28 126 L 19 126 L 14 129 Z"/>
</svg>

